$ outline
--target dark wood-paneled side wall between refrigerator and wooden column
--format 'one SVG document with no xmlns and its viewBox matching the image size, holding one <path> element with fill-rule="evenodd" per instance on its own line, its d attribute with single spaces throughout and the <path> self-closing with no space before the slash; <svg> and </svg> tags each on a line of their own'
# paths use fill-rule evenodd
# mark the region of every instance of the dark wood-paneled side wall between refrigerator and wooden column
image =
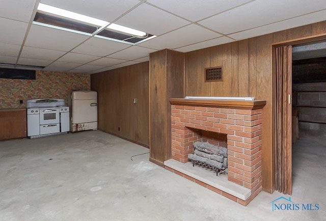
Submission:
<svg viewBox="0 0 326 221">
<path fill-rule="evenodd" d="M 92 74 L 91 90 L 98 93 L 98 129 L 149 147 L 149 62 Z"/>
</svg>

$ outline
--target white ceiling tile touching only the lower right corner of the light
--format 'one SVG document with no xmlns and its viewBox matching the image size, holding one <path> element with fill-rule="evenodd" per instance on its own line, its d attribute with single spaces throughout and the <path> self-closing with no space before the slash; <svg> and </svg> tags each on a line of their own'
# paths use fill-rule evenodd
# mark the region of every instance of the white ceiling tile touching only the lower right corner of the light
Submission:
<svg viewBox="0 0 326 221">
<path fill-rule="evenodd" d="M 115 59 L 135 60 L 148 56 L 149 53 L 154 51 L 156 50 L 139 46 L 131 46 L 119 52 L 110 54 L 110 56 L 107 57 Z"/>
</svg>

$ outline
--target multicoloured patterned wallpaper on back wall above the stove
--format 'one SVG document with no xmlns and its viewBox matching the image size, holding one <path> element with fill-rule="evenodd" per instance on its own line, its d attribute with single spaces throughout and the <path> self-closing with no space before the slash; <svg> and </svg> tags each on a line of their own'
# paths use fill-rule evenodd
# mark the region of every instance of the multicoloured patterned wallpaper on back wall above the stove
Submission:
<svg viewBox="0 0 326 221">
<path fill-rule="evenodd" d="M 36 71 L 36 80 L 0 78 L 0 109 L 25 108 L 26 100 L 39 98 L 64 98 L 67 104 L 73 90 L 91 90 L 91 75 Z"/>
</svg>

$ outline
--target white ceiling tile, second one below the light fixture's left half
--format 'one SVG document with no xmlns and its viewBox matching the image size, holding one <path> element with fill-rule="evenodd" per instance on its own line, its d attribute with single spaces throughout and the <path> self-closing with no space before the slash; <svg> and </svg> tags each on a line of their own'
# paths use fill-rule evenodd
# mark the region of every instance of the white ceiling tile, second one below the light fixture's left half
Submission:
<svg viewBox="0 0 326 221">
<path fill-rule="evenodd" d="M 20 57 L 43 60 L 57 60 L 65 53 L 65 51 L 25 46 L 21 51 Z"/>
</svg>

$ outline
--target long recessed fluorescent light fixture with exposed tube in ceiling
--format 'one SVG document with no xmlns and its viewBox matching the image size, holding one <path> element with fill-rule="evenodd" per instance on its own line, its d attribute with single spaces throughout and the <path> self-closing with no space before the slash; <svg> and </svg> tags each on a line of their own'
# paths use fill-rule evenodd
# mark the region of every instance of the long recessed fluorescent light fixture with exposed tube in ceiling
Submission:
<svg viewBox="0 0 326 221">
<path fill-rule="evenodd" d="M 110 23 L 97 18 L 70 12 L 53 6 L 38 6 L 34 18 L 34 24 L 48 25 L 58 29 L 71 30 L 73 32 L 92 34 L 108 40 L 115 40 L 128 44 L 137 44 L 156 37 L 154 35 L 131 29 L 119 24 Z"/>
</svg>

